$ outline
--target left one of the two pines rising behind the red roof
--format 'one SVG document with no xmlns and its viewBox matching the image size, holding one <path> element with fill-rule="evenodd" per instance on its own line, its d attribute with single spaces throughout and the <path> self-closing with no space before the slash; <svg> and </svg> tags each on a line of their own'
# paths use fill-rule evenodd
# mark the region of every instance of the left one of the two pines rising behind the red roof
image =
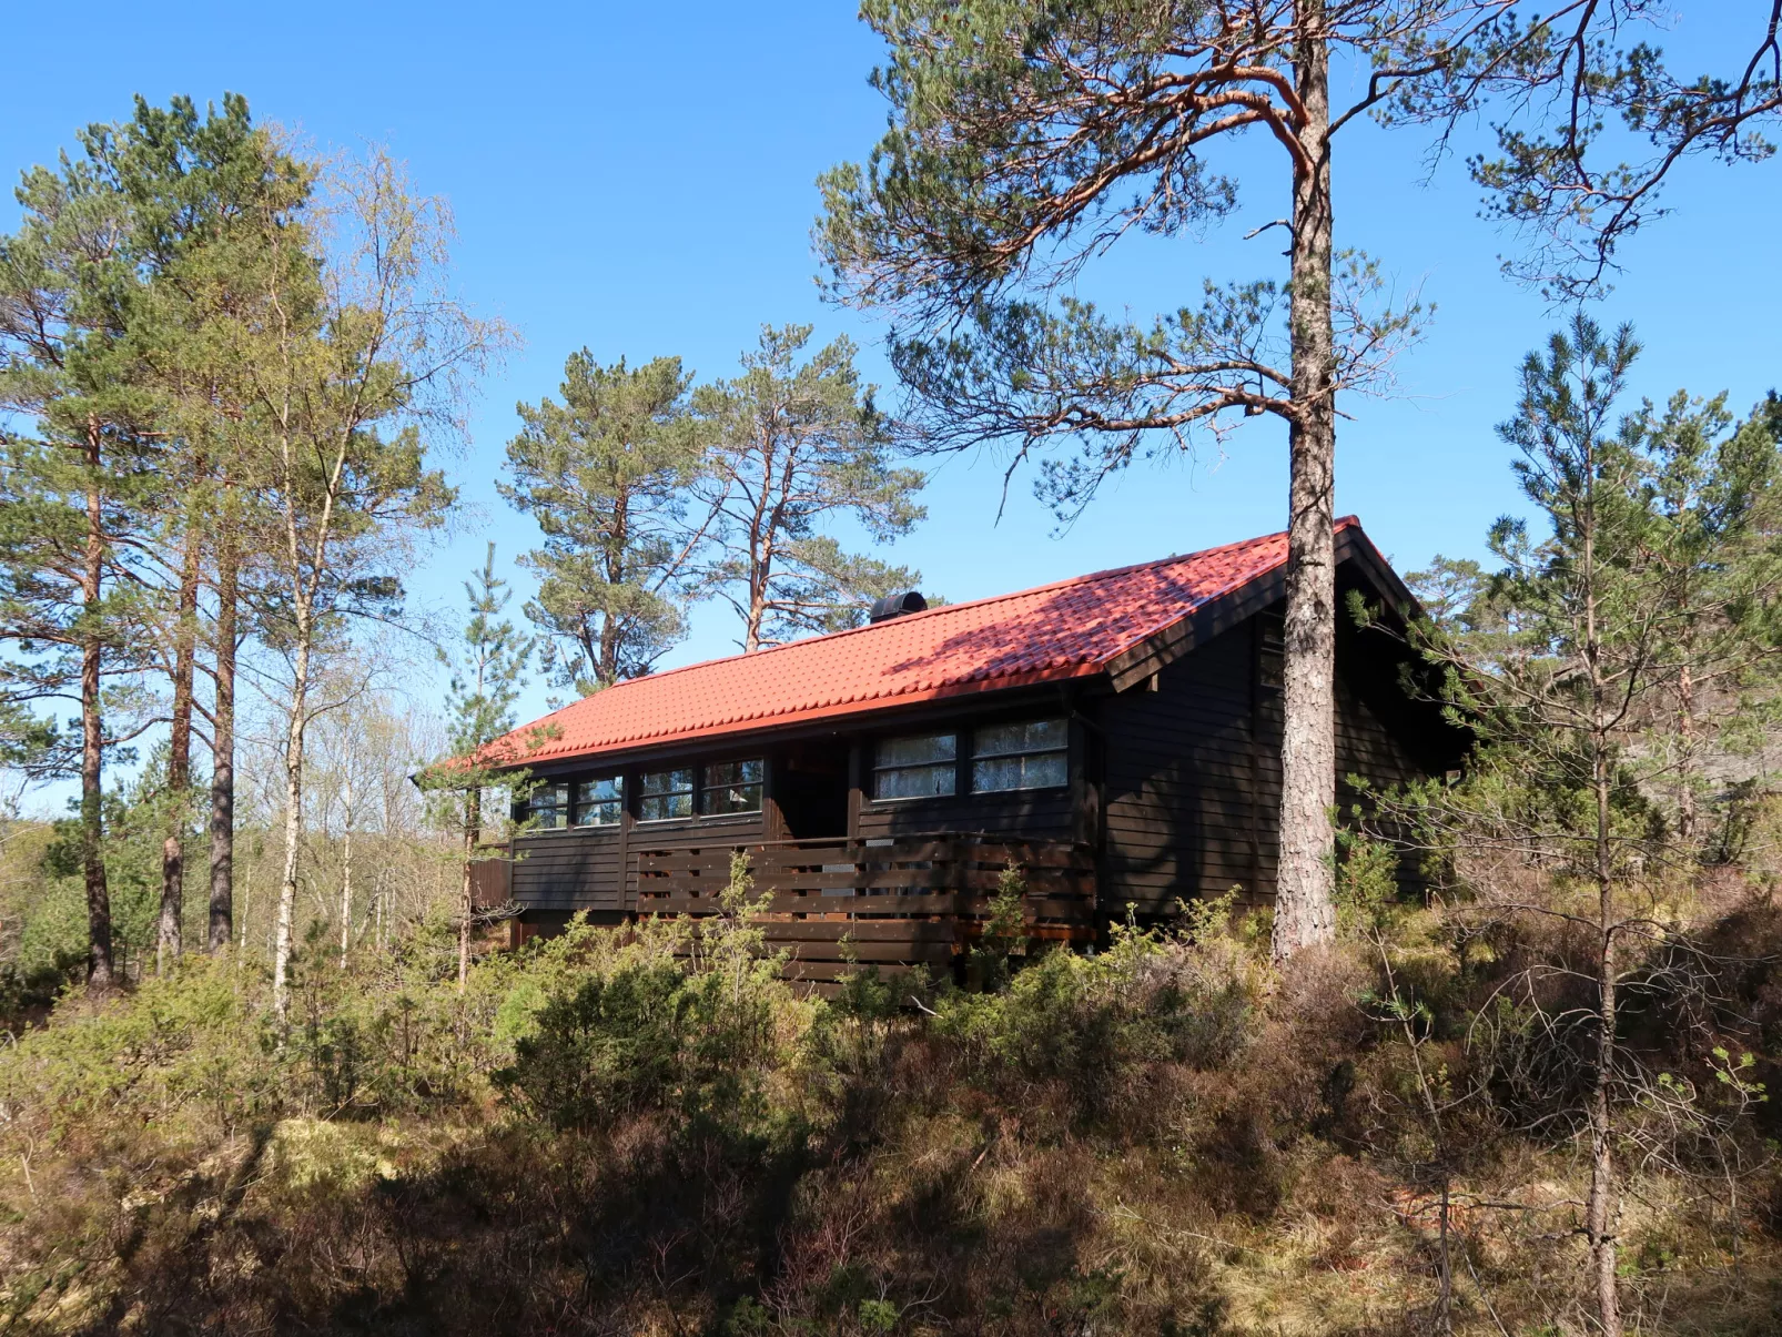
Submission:
<svg viewBox="0 0 1782 1337">
<path fill-rule="evenodd" d="M 544 529 L 526 615 L 551 636 L 547 667 L 588 693 L 647 674 L 684 635 L 709 510 L 690 510 L 704 430 L 679 358 L 563 364 L 560 399 L 520 405 L 501 494 Z"/>
</svg>

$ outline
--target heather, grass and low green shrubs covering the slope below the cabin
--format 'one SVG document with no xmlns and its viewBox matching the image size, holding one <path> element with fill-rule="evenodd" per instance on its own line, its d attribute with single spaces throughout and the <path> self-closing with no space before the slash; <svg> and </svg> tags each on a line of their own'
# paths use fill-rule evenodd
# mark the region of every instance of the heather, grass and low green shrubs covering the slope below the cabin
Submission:
<svg viewBox="0 0 1782 1337">
<path fill-rule="evenodd" d="M 0 1041 L 0 1332 L 1590 1332 L 1577 984 L 1508 988 L 1565 931 L 1349 866 L 1344 939 L 1281 970 L 1230 898 L 1073 954 L 1005 895 L 973 988 L 818 1000 L 740 882 L 463 991 L 444 920 L 312 943 L 289 1032 L 233 952 L 71 989 Z M 1739 956 L 1688 1007 L 1659 961 L 1631 991 L 1625 1308 L 1755 1337 L 1782 906 L 1729 879 L 1684 913 Z"/>
</svg>

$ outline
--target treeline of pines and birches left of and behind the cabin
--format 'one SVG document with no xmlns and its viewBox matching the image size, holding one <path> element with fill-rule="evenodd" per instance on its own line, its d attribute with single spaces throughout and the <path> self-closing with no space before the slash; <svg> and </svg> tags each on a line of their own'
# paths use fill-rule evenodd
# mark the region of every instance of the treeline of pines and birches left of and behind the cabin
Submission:
<svg viewBox="0 0 1782 1337">
<path fill-rule="evenodd" d="M 731 603 L 752 651 L 854 626 L 920 579 L 832 531 L 889 542 L 923 517 L 846 339 L 811 351 L 809 326 L 764 328 L 709 383 L 672 357 L 581 351 L 560 401 L 519 406 L 503 483 L 544 533 L 522 558 L 542 638 L 495 635 L 490 553 L 463 636 L 429 645 L 401 576 L 453 513 L 438 462 L 510 342 L 449 296 L 446 205 L 383 153 L 296 152 L 235 96 L 203 114 L 139 100 L 18 198 L 0 237 L 0 761 L 78 779 L 80 806 L 53 833 L 7 809 L 16 998 L 257 945 L 249 909 L 271 915 L 280 1000 L 319 923 L 347 952 L 454 913 L 467 957 L 463 868 L 440 906 L 419 888 L 440 881 L 446 827 L 501 834 L 519 779 L 428 768 L 513 726 L 535 658 L 592 692 L 649 672 L 699 601 Z M 453 686 L 428 720 L 399 688 L 424 692 L 408 663 L 435 651 Z M 392 795 L 405 768 L 426 804 Z M 367 863 L 376 840 L 401 856 Z"/>
</svg>

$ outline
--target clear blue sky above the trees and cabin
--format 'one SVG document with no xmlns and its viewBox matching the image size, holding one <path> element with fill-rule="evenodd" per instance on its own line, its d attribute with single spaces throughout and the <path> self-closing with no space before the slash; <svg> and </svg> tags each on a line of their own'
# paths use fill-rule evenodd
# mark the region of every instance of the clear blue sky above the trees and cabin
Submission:
<svg viewBox="0 0 1782 1337">
<path fill-rule="evenodd" d="M 419 187 L 451 201 L 463 294 L 526 344 L 483 389 L 472 453 L 454 465 L 479 513 L 415 574 L 424 603 L 456 601 L 485 537 L 503 558 L 531 544 L 492 480 L 513 403 L 554 392 L 574 348 L 602 360 L 679 353 L 722 376 L 763 321 L 813 321 L 823 337 L 852 333 L 886 380 L 879 328 L 823 307 L 813 285 L 813 180 L 862 157 L 884 125 L 866 86 L 877 45 L 846 0 L 96 0 L 14 5 L 7 29 L 7 173 L 50 160 L 78 125 L 127 116 L 132 93 L 203 102 L 228 89 L 258 119 L 317 144 L 390 144 Z M 1552 324 L 1536 296 L 1499 276 L 1497 255 L 1513 241 L 1477 219 L 1459 166 L 1426 187 L 1418 150 L 1415 134 L 1363 127 L 1336 160 L 1340 242 L 1374 253 L 1438 307 L 1399 365 L 1401 398 L 1351 401 L 1340 437 L 1338 506 L 1360 513 L 1401 569 L 1435 553 L 1477 554 L 1486 524 L 1516 506 L 1492 426 L 1511 405 L 1516 360 Z M 1283 212 L 1272 164 L 1256 182 L 1237 225 L 1205 244 L 1126 248 L 1091 280 L 1092 296 L 1148 317 L 1194 299 L 1203 275 L 1278 273 L 1278 232 L 1238 241 Z M 1670 200 L 1677 212 L 1625 250 L 1629 271 L 1600 317 L 1636 321 L 1645 392 L 1725 389 L 1743 412 L 1782 381 L 1782 164 L 1691 164 Z M 5 200 L 0 228 L 14 221 Z M 1224 458 L 1135 471 L 1062 538 L 1026 483 L 994 526 L 1000 471 L 960 460 L 934 476 L 928 522 L 891 554 L 957 601 L 1206 547 L 1281 528 L 1283 456 L 1278 428 L 1246 428 Z M 722 610 L 704 608 L 668 663 L 727 652 L 732 638 Z M 538 690 L 529 704 L 542 699 Z"/>
</svg>

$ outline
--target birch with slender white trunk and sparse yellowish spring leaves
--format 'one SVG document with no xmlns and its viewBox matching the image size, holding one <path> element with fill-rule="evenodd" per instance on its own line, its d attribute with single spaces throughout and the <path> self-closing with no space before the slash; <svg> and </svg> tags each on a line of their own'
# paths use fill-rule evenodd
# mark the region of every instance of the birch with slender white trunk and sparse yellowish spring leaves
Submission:
<svg viewBox="0 0 1782 1337">
<path fill-rule="evenodd" d="M 503 339 L 444 287 L 449 216 L 378 153 L 328 184 L 326 210 L 267 217 L 260 301 L 235 332 L 258 437 L 251 483 L 266 528 L 267 635 L 289 674 L 283 859 L 273 995 L 289 1005 L 305 738 L 317 654 L 401 595 L 405 542 L 442 522 L 453 490 L 429 465 L 462 433 L 465 378 Z"/>
</svg>

